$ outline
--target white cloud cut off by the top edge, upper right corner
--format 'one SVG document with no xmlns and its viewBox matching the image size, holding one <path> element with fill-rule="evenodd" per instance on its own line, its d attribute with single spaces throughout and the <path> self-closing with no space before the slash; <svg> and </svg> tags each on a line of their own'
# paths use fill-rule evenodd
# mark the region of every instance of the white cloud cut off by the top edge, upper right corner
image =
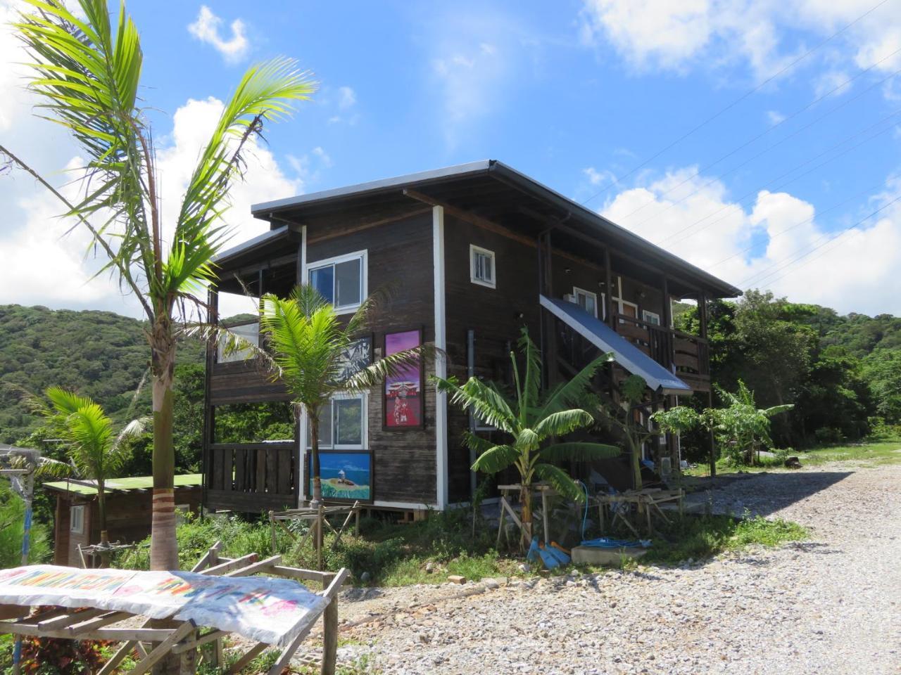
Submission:
<svg viewBox="0 0 901 675">
<path fill-rule="evenodd" d="M 901 66 L 901 53 L 893 55 L 901 48 L 901 25 L 894 20 L 901 0 L 889 0 L 860 18 L 873 7 L 871 0 L 583 0 L 581 29 L 587 43 L 611 45 L 639 70 L 684 72 L 744 62 L 760 81 L 817 40 L 860 19 L 831 46 L 858 67 L 885 58 L 877 69 L 891 72 Z M 813 37 L 792 34 L 797 31 Z"/>
</svg>

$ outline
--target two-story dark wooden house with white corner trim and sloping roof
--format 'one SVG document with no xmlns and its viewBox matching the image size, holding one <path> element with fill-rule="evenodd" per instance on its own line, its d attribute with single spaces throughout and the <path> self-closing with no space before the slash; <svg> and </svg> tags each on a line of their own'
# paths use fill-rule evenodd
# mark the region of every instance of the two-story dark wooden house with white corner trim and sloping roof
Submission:
<svg viewBox="0 0 901 675">
<path fill-rule="evenodd" d="M 363 357 L 420 340 L 445 355 L 403 381 L 333 401 L 324 416 L 333 494 L 386 509 L 443 509 L 474 489 L 461 435 L 478 419 L 449 406 L 430 374 L 504 381 L 526 326 L 541 341 L 547 383 L 612 351 L 613 380 L 599 386 L 614 395 L 617 377 L 640 374 L 650 411 L 710 391 L 705 302 L 741 293 L 496 160 L 261 203 L 253 214 L 270 230 L 218 258 L 218 293 L 285 295 L 308 282 L 351 312 L 390 286 L 389 310 L 361 337 Z M 674 299 L 699 303 L 700 335 L 671 328 Z M 256 326 L 238 330 L 252 336 Z M 220 361 L 210 350 L 206 506 L 295 505 L 309 490 L 304 420 L 281 442 L 217 443 L 217 407 L 289 400 L 253 365 Z"/>
</svg>

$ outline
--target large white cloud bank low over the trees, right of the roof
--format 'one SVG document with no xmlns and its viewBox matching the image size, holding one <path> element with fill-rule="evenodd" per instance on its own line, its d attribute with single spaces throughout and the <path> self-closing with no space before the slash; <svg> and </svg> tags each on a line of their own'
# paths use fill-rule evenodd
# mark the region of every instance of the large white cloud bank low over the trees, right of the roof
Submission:
<svg viewBox="0 0 901 675">
<path fill-rule="evenodd" d="M 732 202 L 723 184 L 705 185 L 703 176 L 679 185 L 695 172 L 685 167 L 623 191 L 601 212 L 739 287 L 771 288 L 840 312 L 901 313 L 901 202 L 851 228 L 901 195 L 901 178 L 889 179 L 860 212 L 827 229 L 813 204 L 788 193 L 764 190 L 746 207 Z"/>
</svg>

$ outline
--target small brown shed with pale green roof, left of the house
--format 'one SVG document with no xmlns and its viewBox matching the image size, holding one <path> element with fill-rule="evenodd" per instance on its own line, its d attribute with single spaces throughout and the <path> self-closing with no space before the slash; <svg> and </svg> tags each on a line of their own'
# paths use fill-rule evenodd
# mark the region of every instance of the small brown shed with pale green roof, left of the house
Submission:
<svg viewBox="0 0 901 675">
<path fill-rule="evenodd" d="M 200 509 L 202 476 L 187 473 L 175 477 L 175 505 L 178 511 Z M 78 545 L 100 543 L 95 481 L 68 479 L 45 482 L 56 493 L 53 563 L 78 566 Z M 150 535 L 153 477 L 112 478 L 105 483 L 106 529 L 111 542 L 141 541 Z"/>
</svg>

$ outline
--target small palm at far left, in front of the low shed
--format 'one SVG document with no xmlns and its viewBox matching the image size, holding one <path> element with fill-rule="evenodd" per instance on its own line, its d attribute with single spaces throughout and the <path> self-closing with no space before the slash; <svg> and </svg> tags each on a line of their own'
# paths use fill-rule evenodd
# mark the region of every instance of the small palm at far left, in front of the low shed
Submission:
<svg viewBox="0 0 901 675">
<path fill-rule="evenodd" d="M 113 419 L 89 397 L 61 387 L 50 387 L 44 393 L 50 405 L 32 397 L 32 409 L 49 419 L 54 432 L 67 442 L 69 462 L 41 457 L 37 473 L 75 474 L 96 481 L 100 543 L 109 544 L 105 482 L 122 468 L 128 455 L 127 441 L 143 433 L 148 419 L 133 419 L 117 433 Z"/>
</svg>

